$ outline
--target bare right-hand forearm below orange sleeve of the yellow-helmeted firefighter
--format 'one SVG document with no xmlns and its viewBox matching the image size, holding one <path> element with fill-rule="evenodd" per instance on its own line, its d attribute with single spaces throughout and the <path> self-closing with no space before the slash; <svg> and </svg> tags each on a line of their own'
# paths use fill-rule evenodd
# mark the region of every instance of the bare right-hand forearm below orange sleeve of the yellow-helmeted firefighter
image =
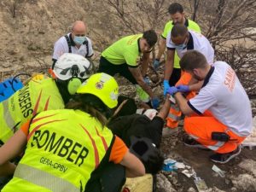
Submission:
<svg viewBox="0 0 256 192">
<path fill-rule="evenodd" d="M 126 177 L 140 177 L 146 173 L 142 161 L 130 151 L 127 151 L 120 164 L 126 168 Z"/>
</svg>

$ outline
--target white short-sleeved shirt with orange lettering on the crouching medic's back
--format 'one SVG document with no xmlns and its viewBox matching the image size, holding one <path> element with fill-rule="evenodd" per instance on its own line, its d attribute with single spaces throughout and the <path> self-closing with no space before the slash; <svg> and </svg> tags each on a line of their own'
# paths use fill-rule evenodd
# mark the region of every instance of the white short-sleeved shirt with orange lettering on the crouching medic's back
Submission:
<svg viewBox="0 0 256 192">
<path fill-rule="evenodd" d="M 190 99 L 196 113 L 209 109 L 214 117 L 238 136 L 248 136 L 253 127 L 252 108 L 234 70 L 223 61 L 216 61 L 207 74 L 199 94 Z"/>
</svg>

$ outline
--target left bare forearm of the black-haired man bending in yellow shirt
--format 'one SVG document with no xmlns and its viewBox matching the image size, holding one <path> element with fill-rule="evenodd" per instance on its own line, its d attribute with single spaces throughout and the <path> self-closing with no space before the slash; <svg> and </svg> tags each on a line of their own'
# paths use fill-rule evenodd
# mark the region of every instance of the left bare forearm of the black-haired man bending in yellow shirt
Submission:
<svg viewBox="0 0 256 192">
<path fill-rule="evenodd" d="M 144 80 L 143 80 L 143 75 L 140 71 L 140 69 L 137 67 L 137 68 L 132 68 L 132 67 L 128 67 L 132 76 L 134 77 L 134 79 L 136 79 L 137 81 L 137 84 L 139 84 L 143 90 L 148 93 L 148 96 L 150 96 L 150 98 L 153 98 L 154 97 L 154 93 L 153 91 L 151 90 L 151 88 L 145 84 Z"/>
</svg>

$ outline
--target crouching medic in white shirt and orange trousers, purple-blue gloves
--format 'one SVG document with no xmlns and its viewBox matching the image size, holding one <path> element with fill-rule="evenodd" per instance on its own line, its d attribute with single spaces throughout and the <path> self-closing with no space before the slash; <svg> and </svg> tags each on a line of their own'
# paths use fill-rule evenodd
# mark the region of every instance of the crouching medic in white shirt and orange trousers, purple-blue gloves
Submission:
<svg viewBox="0 0 256 192">
<path fill-rule="evenodd" d="M 181 111 L 187 115 L 184 130 L 189 147 L 205 147 L 215 154 L 210 159 L 216 163 L 227 163 L 241 153 L 240 143 L 250 135 L 253 116 L 247 93 L 235 71 L 224 61 L 211 66 L 201 52 L 190 50 L 180 61 L 182 70 L 193 78 L 203 80 L 199 94 L 185 99 L 183 89 L 172 86 L 167 92 L 175 96 Z"/>
</svg>

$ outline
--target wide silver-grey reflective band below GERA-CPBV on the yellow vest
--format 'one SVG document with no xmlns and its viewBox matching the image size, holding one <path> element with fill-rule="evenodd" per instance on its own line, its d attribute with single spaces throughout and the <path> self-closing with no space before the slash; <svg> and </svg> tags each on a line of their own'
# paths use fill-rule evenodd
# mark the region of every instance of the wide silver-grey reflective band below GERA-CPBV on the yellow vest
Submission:
<svg viewBox="0 0 256 192">
<path fill-rule="evenodd" d="M 80 192 L 79 188 L 76 188 L 72 183 L 67 182 L 63 178 L 55 177 L 48 172 L 42 172 L 32 166 L 26 166 L 24 164 L 19 164 L 17 166 L 15 177 L 37 184 L 53 192 Z"/>
</svg>

